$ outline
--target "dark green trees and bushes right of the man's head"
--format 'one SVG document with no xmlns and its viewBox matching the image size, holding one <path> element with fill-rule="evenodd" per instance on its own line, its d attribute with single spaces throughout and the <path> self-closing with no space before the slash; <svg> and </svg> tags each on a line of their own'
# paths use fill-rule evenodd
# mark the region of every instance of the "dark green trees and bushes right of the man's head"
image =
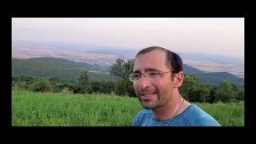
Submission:
<svg viewBox="0 0 256 144">
<path fill-rule="evenodd" d="M 179 91 L 190 102 L 238 102 L 244 99 L 244 90 L 228 81 L 217 86 L 199 82 L 193 74 L 186 75 Z"/>
</svg>

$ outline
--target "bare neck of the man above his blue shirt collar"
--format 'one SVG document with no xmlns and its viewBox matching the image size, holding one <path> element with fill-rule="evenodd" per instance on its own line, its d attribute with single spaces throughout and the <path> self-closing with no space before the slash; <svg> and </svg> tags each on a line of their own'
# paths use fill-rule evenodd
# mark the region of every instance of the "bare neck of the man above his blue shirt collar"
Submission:
<svg viewBox="0 0 256 144">
<path fill-rule="evenodd" d="M 160 106 L 153 111 L 155 119 L 166 119 L 170 117 L 174 117 L 175 113 L 177 112 L 179 106 L 182 104 L 183 98 L 179 93 L 173 94 L 165 105 Z"/>
</svg>

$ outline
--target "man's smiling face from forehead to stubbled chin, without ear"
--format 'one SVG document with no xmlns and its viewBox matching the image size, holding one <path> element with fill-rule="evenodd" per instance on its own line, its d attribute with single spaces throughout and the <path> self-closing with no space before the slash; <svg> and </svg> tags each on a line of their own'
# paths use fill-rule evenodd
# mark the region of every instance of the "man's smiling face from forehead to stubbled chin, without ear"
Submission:
<svg viewBox="0 0 256 144">
<path fill-rule="evenodd" d="M 138 55 L 134 62 L 134 72 L 142 73 L 142 77 L 134 81 L 134 91 L 145 109 L 155 109 L 166 104 L 173 93 L 174 82 L 171 73 L 164 73 L 158 77 L 145 78 L 146 71 L 167 72 L 166 53 L 153 50 Z"/>
</svg>

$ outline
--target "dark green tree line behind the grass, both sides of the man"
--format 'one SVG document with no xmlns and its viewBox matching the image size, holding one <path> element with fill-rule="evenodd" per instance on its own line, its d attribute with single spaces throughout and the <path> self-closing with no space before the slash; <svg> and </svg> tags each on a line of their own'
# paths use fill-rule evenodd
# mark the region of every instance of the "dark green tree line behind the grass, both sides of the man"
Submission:
<svg viewBox="0 0 256 144">
<path fill-rule="evenodd" d="M 28 76 L 12 77 L 13 90 L 25 89 L 35 92 L 54 92 L 71 94 L 116 94 L 120 96 L 136 97 L 133 83 L 129 80 L 132 73 L 134 59 L 127 62 L 118 58 L 110 66 L 110 74 L 118 76 L 115 81 L 92 81 L 86 70 L 83 70 L 77 81 L 62 78 L 36 78 Z M 244 99 L 244 90 L 235 84 L 223 81 L 219 85 L 199 82 L 193 74 L 186 74 L 182 86 L 179 88 L 182 97 L 190 102 L 239 102 Z"/>
</svg>

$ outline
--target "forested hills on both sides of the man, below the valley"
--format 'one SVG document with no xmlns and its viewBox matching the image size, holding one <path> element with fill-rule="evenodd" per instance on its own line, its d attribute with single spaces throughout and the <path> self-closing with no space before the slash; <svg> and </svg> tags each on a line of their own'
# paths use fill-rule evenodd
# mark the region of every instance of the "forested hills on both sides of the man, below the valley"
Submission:
<svg viewBox="0 0 256 144">
<path fill-rule="evenodd" d="M 30 58 L 17 59 L 12 58 L 12 75 L 25 75 L 36 77 L 58 77 L 66 80 L 76 80 L 82 70 L 90 71 L 107 71 L 107 66 L 94 66 L 82 62 L 73 62 L 62 58 Z M 243 86 L 243 79 L 238 78 L 234 74 L 226 72 L 206 73 L 198 70 L 193 66 L 183 64 L 184 74 L 194 74 L 201 82 L 209 82 L 219 84 L 227 80 L 237 86 Z M 89 72 L 90 79 L 94 81 L 116 81 L 118 77 L 110 74 L 98 74 L 97 72 Z"/>
</svg>

